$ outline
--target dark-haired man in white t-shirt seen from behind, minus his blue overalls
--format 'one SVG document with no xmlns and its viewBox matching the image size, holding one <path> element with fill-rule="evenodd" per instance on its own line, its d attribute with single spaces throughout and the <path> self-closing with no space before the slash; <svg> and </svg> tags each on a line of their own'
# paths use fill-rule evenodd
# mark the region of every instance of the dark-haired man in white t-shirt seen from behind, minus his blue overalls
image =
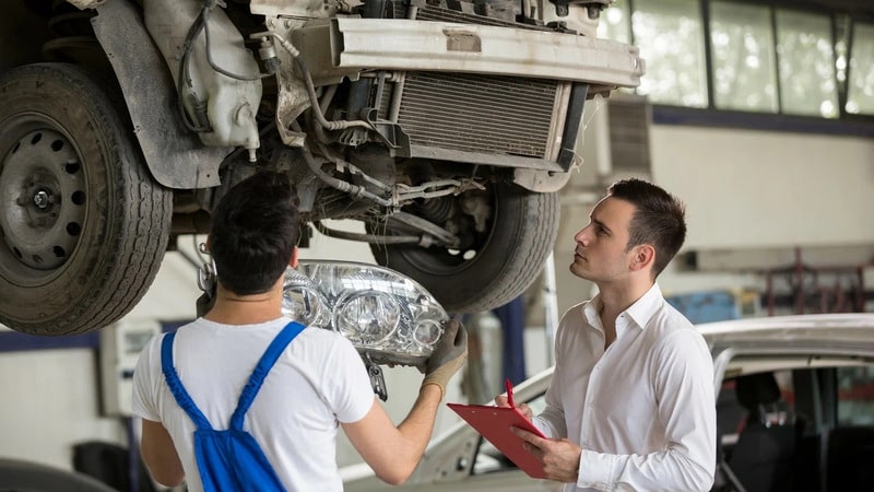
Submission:
<svg viewBox="0 0 874 492">
<path fill-rule="evenodd" d="M 228 190 L 213 212 L 208 248 L 217 271 L 215 304 L 178 329 L 174 353 L 182 384 L 214 429 L 226 427 L 252 367 L 291 321 L 281 313 L 283 273 L 297 265 L 298 234 L 296 196 L 285 175 L 255 174 Z M 189 491 L 201 491 L 196 425 L 165 383 L 162 338 L 150 341 L 134 372 L 140 448 L 157 482 L 186 481 Z M 245 430 L 287 490 L 343 490 L 338 422 L 376 475 L 399 484 L 421 459 L 446 385 L 465 358 L 466 331 L 452 319 L 423 370 L 418 398 L 395 426 L 352 343 L 338 332 L 307 328 L 269 373 Z"/>
</svg>

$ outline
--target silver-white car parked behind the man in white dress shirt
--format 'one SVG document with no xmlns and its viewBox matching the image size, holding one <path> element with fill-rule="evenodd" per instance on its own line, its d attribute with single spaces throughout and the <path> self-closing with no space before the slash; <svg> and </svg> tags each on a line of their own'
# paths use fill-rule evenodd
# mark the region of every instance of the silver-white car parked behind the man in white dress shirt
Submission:
<svg viewBox="0 0 874 492">
<path fill-rule="evenodd" d="M 716 368 L 721 449 L 714 491 L 871 490 L 874 314 L 698 327 Z M 516 387 L 516 400 L 539 412 L 551 376 L 548 368 Z M 364 464 L 342 473 L 347 492 L 560 490 L 525 476 L 462 421 L 430 443 L 401 487 L 385 484 Z"/>
</svg>

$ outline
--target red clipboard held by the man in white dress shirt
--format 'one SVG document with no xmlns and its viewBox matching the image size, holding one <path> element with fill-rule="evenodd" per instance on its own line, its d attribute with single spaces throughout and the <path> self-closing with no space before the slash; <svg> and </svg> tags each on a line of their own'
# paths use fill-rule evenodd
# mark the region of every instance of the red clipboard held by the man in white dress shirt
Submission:
<svg viewBox="0 0 874 492">
<path fill-rule="evenodd" d="M 524 441 L 510 432 L 510 427 L 524 429 L 541 437 L 546 437 L 538 427 L 525 419 L 518 408 L 489 407 L 485 405 L 446 403 L 473 429 L 492 443 L 499 452 L 516 464 L 531 478 L 546 478 L 543 464 L 527 452 Z"/>
</svg>

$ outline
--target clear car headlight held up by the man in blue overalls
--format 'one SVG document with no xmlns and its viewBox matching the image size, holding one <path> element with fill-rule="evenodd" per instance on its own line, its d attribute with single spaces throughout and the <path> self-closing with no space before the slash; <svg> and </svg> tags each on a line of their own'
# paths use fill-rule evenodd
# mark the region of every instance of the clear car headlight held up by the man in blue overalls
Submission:
<svg viewBox="0 0 874 492">
<path fill-rule="evenodd" d="M 283 313 L 341 332 L 378 364 L 427 361 L 449 316 L 425 289 L 393 270 L 349 261 L 300 261 L 285 271 Z"/>
</svg>

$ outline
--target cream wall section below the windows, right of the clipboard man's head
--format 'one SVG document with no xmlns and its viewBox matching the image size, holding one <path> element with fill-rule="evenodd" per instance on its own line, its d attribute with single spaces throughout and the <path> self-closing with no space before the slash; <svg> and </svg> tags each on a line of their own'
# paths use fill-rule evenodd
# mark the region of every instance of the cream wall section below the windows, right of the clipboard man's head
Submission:
<svg viewBox="0 0 874 492">
<path fill-rule="evenodd" d="M 874 244 L 874 139 L 652 127 L 653 179 L 686 249 Z"/>
</svg>

